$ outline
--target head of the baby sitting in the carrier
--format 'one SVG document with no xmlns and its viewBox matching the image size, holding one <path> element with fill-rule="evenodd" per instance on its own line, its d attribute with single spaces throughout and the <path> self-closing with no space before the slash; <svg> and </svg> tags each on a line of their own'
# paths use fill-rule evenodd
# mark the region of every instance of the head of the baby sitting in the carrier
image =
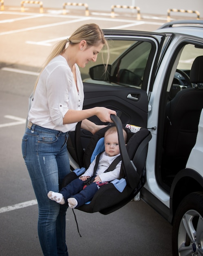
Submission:
<svg viewBox="0 0 203 256">
<path fill-rule="evenodd" d="M 127 132 L 123 129 L 124 141 L 127 141 Z M 118 133 L 115 126 L 109 128 L 104 135 L 104 146 L 106 154 L 110 157 L 118 155 L 120 153 L 119 142 L 118 142 Z"/>
</svg>

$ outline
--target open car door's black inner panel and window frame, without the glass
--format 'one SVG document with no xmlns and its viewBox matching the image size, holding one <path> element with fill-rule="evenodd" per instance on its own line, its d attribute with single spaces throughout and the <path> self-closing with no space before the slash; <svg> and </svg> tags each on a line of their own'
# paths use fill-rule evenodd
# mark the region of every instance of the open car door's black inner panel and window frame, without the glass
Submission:
<svg viewBox="0 0 203 256">
<path fill-rule="evenodd" d="M 148 99 L 150 97 L 150 90 L 153 88 L 153 81 L 157 72 L 157 66 L 159 63 L 161 48 L 164 42 L 164 34 L 160 33 L 151 33 L 151 32 L 143 32 L 143 31 L 126 31 L 126 30 L 104 30 L 104 34 L 107 40 L 145 40 L 149 41 L 152 44 L 152 52 L 153 57 L 150 57 L 148 65 L 146 66 L 146 71 L 148 76 L 147 79 L 145 79 L 145 86 L 144 89 L 137 89 L 137 88 L 124 88 L 121 86 L 115 86 L 112 85 L 98 85 L 97 83 L 86 83 L 84 82 L 84 106 L 83 109 L 91 108 L 94 106 L 104 106 L 106 108 L 111 108 L 117 112 L 117 115 L 121 117 L 121 121 L 123 124 L 130 123 L 130 124 L 136 124 L 138 126 L 143 126 L 147 128 L 147 122 L 148 122 Z M 116 107 L 115 103 L 111 103 L 110 101 L 115 101 L 115 95 L 114 92 L 117 92 L 117 99 L 119 98 L 119 105 L 122 104 L 122 107 L 125 107 L 126 102 L 128 102 L 128 108 L 124 110 L 123 108 Z M 124 92 L 128 93 L 124 93 Z M 119 96 L 118 96 L 119 95 Z M 129 95 L 135 96 L 135 98 L 138 98 L 139 100 L 135 100 L 133 98 L 130 98 Z M 104 100 L 102 100 L 103 98 Z M 122 118 L 122 111 L 128 112 L 127 109 L 135 108 L 135 101 L 137 103 L 137 112 L 133 109 L 131 111 L 129 118 Z M 115 105 L 114 105 L 115 104 Z M 130 106 L 130 107 L 129 107 Z M 136 123 L 135 120 L 137 119 L 137 113 L 139 112 L 139 117 L 142 117 L 142 122 Z M 133 113 L 133 115 L 132 115 Z M 133 116 L 133 117 L 132 117 Z M 96 124 L 101 124 L 99 119 L 97 117 L 91 117 L 90 121 L 95 122 Z M 108 125 L 108 124 L 107 124 Z M 72 132 L 72 135 L 70 136 L 71 139 L 69 139 L 68 151 L 70 156 L 70 164 L 72 168 L 78 167 L 78 160 L 77 160 L 77 153 L 75 152 L 75 135 L 74 132 Z M 92 137 L 92 134 L 86 130 L 81 129 L 81 137 L 83 140 L 89 141 Z M 83 145 L 83 143 L 82 143 Z M 85 148 L 85 147 L 83 147 Z M 70 151 L 71 150 L 71 151 Z M 80 148 L 81 150 L 81 148 Z"/>
</svg>

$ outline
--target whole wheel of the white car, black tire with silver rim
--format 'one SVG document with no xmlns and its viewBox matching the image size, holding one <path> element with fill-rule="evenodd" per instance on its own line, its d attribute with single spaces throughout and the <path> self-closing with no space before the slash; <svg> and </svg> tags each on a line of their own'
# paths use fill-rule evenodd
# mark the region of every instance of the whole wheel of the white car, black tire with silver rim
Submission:
<svg viewBox="0 0 203 256">
<path fill-rule="evenodd" d="M 203 255 L 203 193 L 187 195 L 180 203 L 172 229 L 172 254 Z"/>
</svg>

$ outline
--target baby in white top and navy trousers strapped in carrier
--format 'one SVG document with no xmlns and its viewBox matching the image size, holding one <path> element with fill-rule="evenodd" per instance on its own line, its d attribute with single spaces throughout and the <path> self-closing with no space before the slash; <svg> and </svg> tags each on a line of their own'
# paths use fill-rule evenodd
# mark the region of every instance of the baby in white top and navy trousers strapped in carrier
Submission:
<svg viewBox="0 0 203 256">
<path fill-rule="evenodd" d="M 123 134 L 126 143 L 127 133 L 124 129 Z M 93 196 L 101 186 L 112 180 L 118 179 L 121 169 L 121 161 L 116 165 L 113 171 L 105 172 L 113 160 L 120 155 L 118 134 L 115 126 L 109 128 L 105 132 L 104 146 L 105 151 L 100 155 L 95 176 L 93 176 L 93 173 L 98 155 L 90 164 L 86 172 L 62 188 L 60 193 L 49 191 L 47 194 L 49 199 L 54 200 L 59 204 L 66 204 L 66 202 L 68 202 L 68 206 L 71 208 L 79 207 L 92 200 Z M 87 181 L 88 184 L 86 185 Z"/>
</svg>

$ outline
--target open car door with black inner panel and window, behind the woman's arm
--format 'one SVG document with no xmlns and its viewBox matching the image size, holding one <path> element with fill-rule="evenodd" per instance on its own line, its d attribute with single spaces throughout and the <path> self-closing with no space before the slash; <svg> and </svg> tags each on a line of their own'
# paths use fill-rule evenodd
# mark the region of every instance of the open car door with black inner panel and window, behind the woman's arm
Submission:
<svg viewBox="0 0 203 256">
<path fill-rule="evenodd" d="M 117 112 L 122 124 L 147 128 L 148 97 L 157 71 L 164 34 L 149 32 L 104 30 L 109 40 L 110 61 L 104 73 L 102 54 L 96 63 L 81 69 L 84 82 L 84 109 L 104 106 Z M 97 117 L 91 121 L 102 124 Z M 80 130 L 81 142 L 75 142 L 75 132 L 68 139 L 68 152 L 72 168 L 82 167 L 82 153 L 92 136 Z"/>
</svg>

